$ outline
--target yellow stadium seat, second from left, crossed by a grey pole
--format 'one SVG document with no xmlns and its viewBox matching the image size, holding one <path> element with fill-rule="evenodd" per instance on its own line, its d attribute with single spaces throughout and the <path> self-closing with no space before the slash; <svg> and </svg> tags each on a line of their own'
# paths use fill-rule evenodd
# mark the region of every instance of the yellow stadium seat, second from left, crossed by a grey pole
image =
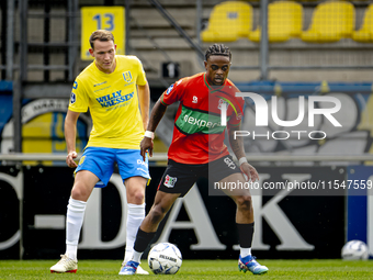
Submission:
<svg viewBox="0 0 373 280">
<path fill-rule="evenodd" d="M 270 43 L 285 42 L 302 33 L 303 7 L 291 1 L 278 1 L 268 7 L 268 36 Z M 249 40 L 260 42 L 261 26 L 249 34 Z"/>
</svg>

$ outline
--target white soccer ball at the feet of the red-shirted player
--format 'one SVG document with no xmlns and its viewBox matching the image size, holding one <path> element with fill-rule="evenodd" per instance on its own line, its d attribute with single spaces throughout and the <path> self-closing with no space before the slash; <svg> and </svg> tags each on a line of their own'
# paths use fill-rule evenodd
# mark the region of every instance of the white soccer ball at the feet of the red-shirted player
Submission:
<svg viewBox="0 0 373 280">
<path fill-rule="evenodd" d="M 159 243 L 148 255 L 148 265 L 155 275 L 174 275 L 182 262 L 181 253 L 171 243 Z"/>
</svg>

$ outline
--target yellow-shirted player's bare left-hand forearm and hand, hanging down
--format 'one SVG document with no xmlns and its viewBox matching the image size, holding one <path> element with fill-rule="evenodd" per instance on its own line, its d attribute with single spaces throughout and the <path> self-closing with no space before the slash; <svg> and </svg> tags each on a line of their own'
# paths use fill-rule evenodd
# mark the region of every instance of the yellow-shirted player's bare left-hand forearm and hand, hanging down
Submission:
<svg viewBox="0 0 373 280">
<path fill-rule="evenodd" d="M 76 137 L 79 114 L 79 112 L 67 110 L 67 115 L 65 119 L 65 139 L 67 147 L 66 164 L 72 168 L 78 166 L 74 159 L 78 156 L 76 152 Z"/>
</svg>

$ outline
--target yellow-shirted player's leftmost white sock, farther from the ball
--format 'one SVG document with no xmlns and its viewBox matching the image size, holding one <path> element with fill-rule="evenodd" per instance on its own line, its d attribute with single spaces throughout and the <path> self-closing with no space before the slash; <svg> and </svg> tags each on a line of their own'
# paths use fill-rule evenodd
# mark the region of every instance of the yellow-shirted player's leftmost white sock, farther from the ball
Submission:
<svg viewBox="0 0 373 280">
<path fill-rule="evenodd" d="M 83 224 L 87 202 L 69 199 L 66 214 L 66 254 L 77 259 L 80 229 Z"/>
</svg>

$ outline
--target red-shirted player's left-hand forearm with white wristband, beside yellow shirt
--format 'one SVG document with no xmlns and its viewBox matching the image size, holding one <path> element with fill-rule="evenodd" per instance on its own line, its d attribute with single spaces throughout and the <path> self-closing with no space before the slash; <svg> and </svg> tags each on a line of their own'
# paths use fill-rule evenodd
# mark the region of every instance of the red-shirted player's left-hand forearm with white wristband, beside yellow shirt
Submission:
<svg viewBox="0 0 373 280">
<path fill-rule="evenodd" d="M 146 128 L 146 134 L 152 133 L 152 136 L 154 136 L 154 132 L 156 131 L 160 120 L 163 117 L 166 110 L 167 110 L 167 105 L 163 105 L 160 102 L 160 99 L 158 99 L 157 103 L 154 105 L 151 110 L 148 127 Z M 144 160 L 145 160 L 146 152 L 149 152 L 150 157 L 152 156 L 152 146 L 154 146 L 152 136 L 151 135 L 144 136 L 140 143 L 140 154 Z"/>
</svg>

